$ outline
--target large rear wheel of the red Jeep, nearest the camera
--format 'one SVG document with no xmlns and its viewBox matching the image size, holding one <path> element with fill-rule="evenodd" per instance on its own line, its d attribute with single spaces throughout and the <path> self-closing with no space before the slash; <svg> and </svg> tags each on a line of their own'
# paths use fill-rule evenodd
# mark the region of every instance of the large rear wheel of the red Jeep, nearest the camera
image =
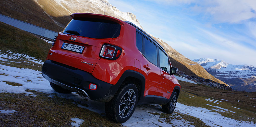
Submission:
<svg viewBox="0 0 256 127">
<path fill-rule="evenodd" d="M 114 97 L 105 103 L 105 113 L 108 118 L 117 123 L 130 119 L 138 102 L 138 90 L 131 82 L 123 83 Z"/>
</svg>

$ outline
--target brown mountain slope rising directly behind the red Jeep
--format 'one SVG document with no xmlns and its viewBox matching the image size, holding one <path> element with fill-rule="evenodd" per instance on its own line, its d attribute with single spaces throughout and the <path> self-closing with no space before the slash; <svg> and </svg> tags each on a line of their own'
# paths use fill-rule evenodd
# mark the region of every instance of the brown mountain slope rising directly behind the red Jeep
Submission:
<svg viewBox="0 0 256 127">
<path fill-rule="evenodd" d="M 4 2 L 0 4 L 2 4 L 2 6 L 11 7 L 11 9 L 5 10 L 1 10 L 0 8 L 0 12 L 4 12 L 4 15 L 12 14 L 13 18 L 39 25 L 56 32 L 62 31 L 62 29 L 68 24 L 68 22 L 71 20 L 69 17 L 71 13 L 84 12 L 103 14 L 103 7 L 105 7 L 105 15 L 119 18 L 124 21 L 130 21 L 138 27 L 141 27 L 134 14 L 130 12 L 121 12 L 105 0 L 12 0 L 12 2 L 4 0 Z M 27 18 L 19 17 L 19 15 L 23 16 L 24 14 L 26 14 Z M 37 20 L 32 22 L 32 20 L 34 20 L 33 17 Z M 27 19 L 32 20 L 26 21 Z M 225 84 L 224 82 L 209 74 L 199 64 L 178 53 L 175 49 L 173 49 L 161 39 L 158 39 L 153 35 L 151 36 L 156 41 L 158 41 L 161 46 L 164 47 L 170 56 L 172 65 L 178 67 L 178 69 L 182 72 L 185 72 L 189 76 L 198 76 L 206 79 L 212 79 L 218 83 Z"/>
</svg>

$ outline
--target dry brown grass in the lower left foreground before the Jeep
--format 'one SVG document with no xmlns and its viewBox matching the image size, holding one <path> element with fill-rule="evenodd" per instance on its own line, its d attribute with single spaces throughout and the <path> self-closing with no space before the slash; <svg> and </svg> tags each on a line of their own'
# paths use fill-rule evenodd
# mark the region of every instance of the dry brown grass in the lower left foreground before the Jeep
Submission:
<svg viewBox="0 0 256 127">
<path fill-rule="evenodd" d="M 0 93 L 0 109 L 16 110 L 12 115 L 1 114 L 0 126 L 68 126 L 71 118 L 83 119 L 83 126 L 122 126 L 110 121 L 106 116 L 80 108 L 73 100 L 31 91 L 36 94 Z M 79 103 L 79 102 L 76 102 Z M 83 105 L 86 106 L 86 105 Z"/>
</svg>

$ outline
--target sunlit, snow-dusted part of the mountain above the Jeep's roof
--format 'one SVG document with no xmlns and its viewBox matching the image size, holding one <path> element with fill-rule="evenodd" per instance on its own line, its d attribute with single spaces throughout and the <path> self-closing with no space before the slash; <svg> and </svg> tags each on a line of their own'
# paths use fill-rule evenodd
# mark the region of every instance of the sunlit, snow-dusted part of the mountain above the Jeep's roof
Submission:
<svg viewBox="0 0 256 127">
<path fill-rule="evenodd" d="M 131 12 L 122 12 L 115 6 L 111 5 L 106 0 L 34 0 L 39 6 L 41 6 L 45 12 L 51 17 L 65 17 L 72 13 L 96 13 L 103 14 L 105 8 L 105 15 L 112 16 L 124 21 L 130 21 L 142 28 L 136 16 Z M 60 26 L 66 26 L 65 23 L 57 19 L 56 22 L 60 23 Z M 61 24 L 62 23 L 62 24 Z M 142 28 L 143 29 L 143 28 Z"/>
</svg>

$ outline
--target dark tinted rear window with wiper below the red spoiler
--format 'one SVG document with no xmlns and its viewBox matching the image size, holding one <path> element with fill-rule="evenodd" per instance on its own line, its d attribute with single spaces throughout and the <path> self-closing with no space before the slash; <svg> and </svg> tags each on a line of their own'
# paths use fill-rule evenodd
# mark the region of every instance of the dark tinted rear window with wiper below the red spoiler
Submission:
<svg viewBox="0 0 256 127">
<path fill-rule="evenodd" d="M 77 31 L 79 36 L 83 37 L 116 38 L 120 34 L 120 29 L 120 24 L 109 20 L 80 18 L 72 19 L 62 33 L 76 35 L 67 31 Z"/>
</svg>

